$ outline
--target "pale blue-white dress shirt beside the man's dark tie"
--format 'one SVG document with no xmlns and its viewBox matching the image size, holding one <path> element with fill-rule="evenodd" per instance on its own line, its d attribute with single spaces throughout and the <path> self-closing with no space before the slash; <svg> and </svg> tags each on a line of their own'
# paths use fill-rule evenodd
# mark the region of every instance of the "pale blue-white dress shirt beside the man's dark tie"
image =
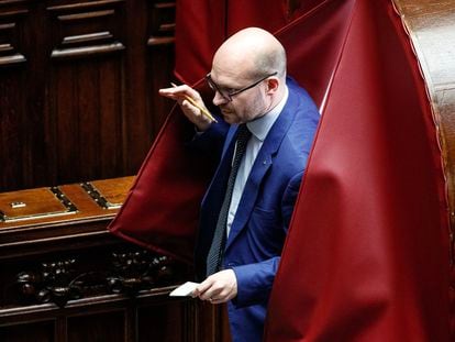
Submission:
<svg viewBox="0 0 455 342">
<path fill-rule="evenodd" d="M 248 179 L 249 172 L 253 168 L 253 164 L 256 161 L 260 147 L 263 146 L 264 140 L 266 139 L 275 121 L 278 119 L 282 108 L 285 107 L 286 101 L 288 100 L 288 96 L 289 90 L 286 87 L 285 96 L 277 106 L 275 106 L 268 113 L 264 114 L 263 117 L 246 123 L 246 126 L 248 128 L 249 132 L 252 132 L 252 136 L 249 137 L 248 143 L 246 145 L 246 151 L 242 158 L 241 165 L 238 167 L 238 173 L 235 178 L 231 206 L 229 208 L 228 213 L 228 235 L 231 231 L 232 221 L 234 221 L 235 212 L 237 211 L 243 189 L 245 188 L 246 179 Z"/>
</svg>

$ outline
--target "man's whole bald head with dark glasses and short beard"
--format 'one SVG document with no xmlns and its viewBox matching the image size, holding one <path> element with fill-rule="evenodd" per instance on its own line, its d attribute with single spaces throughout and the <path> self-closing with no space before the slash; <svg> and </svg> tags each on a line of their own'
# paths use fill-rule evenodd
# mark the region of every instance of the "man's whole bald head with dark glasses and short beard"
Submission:
<svg viewBox="0 0 455 342">
<path fill-rule="evenodd" d="M 286 52 L 270 33 L 257 27 L 238 31 L 217 51 L 208 81 L 229 123 L 264 115 L 284 96 Z"/>
</svg>

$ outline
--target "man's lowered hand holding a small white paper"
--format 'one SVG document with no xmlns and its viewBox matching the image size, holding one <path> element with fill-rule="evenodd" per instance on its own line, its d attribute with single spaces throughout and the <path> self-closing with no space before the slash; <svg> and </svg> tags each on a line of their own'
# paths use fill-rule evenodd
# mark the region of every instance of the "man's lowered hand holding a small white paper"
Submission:
<svg viewBox="0 0 455 342">
<path fill-rule="evenodd" d="M 209 300 L 211 304 L 222 304 L 237 295 L 237 278 L 232 269 L 212 274 L 193 291 L 192 297 Z"/>
</svg>

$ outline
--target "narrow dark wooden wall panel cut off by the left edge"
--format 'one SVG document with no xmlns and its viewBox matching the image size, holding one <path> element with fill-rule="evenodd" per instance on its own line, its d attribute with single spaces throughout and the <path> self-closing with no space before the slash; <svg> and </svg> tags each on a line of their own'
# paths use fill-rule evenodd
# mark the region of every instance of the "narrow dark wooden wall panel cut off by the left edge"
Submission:
<svg viewBox="0 0 455 342">
<path fill-rule="evenodd" d="M 0 165 L 1 183 L 18 186 L 26 179 L 27 157 L 24 31 L 30 13 L 26 1 L 3 9 L 0 2 Z M 1 186 L 0 186 L 1 189 Z"/>
</svg>

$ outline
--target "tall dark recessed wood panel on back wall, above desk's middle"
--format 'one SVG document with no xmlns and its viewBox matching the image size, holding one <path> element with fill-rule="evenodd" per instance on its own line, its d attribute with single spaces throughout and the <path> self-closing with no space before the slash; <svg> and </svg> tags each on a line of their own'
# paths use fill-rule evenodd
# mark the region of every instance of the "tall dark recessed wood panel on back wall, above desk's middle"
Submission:
<svg viewBox="0 0 455 342">
<path fill-rule="evenodd" d="M 57 179 L 78 181 L 122 174 L 120 67 L 119 60 L 102 57 L 58 62 L 51 73 L 55 98 L 46 121 L 54 132 L 48 148 L 56 159 Z"/>
</svg>

